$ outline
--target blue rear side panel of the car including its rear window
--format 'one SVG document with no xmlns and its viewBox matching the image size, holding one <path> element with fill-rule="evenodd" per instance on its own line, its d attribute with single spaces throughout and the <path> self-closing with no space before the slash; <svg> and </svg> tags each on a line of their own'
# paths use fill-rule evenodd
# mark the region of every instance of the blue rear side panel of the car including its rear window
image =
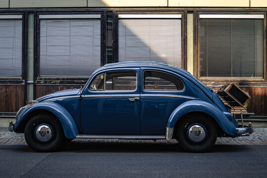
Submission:
<svg viewBox="0 0 267 178">
<path fill-rule="evenodd" d="M 143 135 L 163 135 L 172 112 L 193 99 L 181 76 L 164 69 L 140 68 L 140 124 Z"/>
</svg>

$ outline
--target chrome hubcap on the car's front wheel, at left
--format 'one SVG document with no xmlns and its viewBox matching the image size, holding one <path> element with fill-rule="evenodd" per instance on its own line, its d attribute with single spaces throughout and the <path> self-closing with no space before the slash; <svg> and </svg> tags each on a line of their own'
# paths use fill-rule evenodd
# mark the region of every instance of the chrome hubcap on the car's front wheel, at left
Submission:
<svg viewBox="0 0 267 178">
<path fill-rule="evenodd" d="M 35 131 L 35 136 L 39 141 L 46 142 L 52 137 L 52 130 L 47 125 L 40 125 Z"/>
</svg>

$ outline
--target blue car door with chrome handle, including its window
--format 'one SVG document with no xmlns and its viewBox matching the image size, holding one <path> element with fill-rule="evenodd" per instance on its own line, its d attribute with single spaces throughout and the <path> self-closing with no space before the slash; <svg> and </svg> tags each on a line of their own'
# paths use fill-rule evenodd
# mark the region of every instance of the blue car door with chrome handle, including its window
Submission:
<svg viewBox="0 0 267 178">
<path fill-rule="evenodd" d="M 94 75 L 82 93 L 83 134 L 140 134 L 139 68 Z"/>
</svg>

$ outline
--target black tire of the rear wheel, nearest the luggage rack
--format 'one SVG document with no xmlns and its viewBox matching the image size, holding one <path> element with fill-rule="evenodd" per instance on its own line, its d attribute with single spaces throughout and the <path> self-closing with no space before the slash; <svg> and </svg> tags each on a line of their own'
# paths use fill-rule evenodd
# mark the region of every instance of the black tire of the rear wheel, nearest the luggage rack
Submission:
<svg viewBox="0 0 267 178">
<path fill-rule="evenodd" d="M 200 141 L 192 140 L 189 136 L 190 128 L 200 126 L 205 131 L 205 135 Z M 202 114 L 190 114 L 178 121 L 176 126 L 176 138 L 182 149 L 189 152 L 207 152 L 215 144 L 217 140 L 217 124 L 213 118 Z M 194 133 L 192 131 L 191 133 Z M 200 132 L 194 133 L 195 138 L 198 139 Z M 194 136 L 194 135 L 193 135 Z M 191 134 L 192 137 L 192 134 Z"/>
</svg>

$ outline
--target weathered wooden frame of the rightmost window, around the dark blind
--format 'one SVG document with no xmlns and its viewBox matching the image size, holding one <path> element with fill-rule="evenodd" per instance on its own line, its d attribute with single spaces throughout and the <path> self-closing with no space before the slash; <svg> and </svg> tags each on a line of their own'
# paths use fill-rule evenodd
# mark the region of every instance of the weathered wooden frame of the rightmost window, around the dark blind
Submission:
<svg viewBox="0 0 267 178">
<path fill-rule="evenodd" d="M 218 15 L 251 15 L 251 14 L 259 14 L 259 15 L 264 15 L 264 75 L 263 75 L 263 79 L 234 79 L 234 78 L 227 78 L 227 79 L 216 79 L 216 78 L 201 78 L 200 77 L 200 15 L 201 14 L 218 14 Z M 250 85 L 250 84 L 255 84 L 255 83 L 262 83 L 262 82 L 267 82 L 267 12 L 263 12 L 263 11 L 197 11 L 195 12 L 194 18 L 197 21 L 197 25 L 195 26 L 195 43 L 194 43 L 194 51 L 195 55 L 194 55 L 194 76 L 200 80 L 201 82 L 204 82 L 207 85 L 220 85 L 220 83 L 222 82 L 239 82 L 241 85 Z"/>
</svg>

